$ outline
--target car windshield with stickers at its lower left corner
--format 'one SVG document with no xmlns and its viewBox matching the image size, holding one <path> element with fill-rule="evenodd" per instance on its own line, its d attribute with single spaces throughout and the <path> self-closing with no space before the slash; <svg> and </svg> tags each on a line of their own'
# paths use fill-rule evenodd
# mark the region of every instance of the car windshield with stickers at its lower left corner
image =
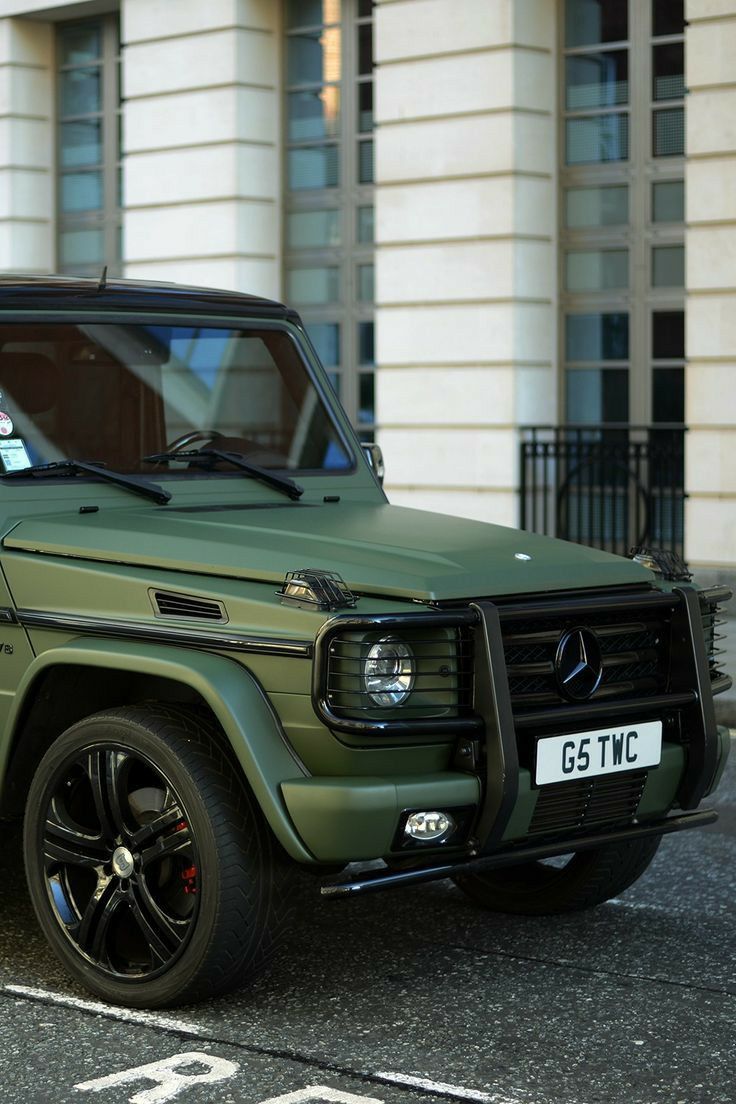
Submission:
<svg viewBox="0 0 736 1104">
<path fill-rule="evenodd" d="M 135 323 L 0 326 L 0 470 L 61 459 L 157 475 L 233 473 L 152 454 L 206 448 L 264 468 L 351 458 L 285 331 Z"/>
</svg>

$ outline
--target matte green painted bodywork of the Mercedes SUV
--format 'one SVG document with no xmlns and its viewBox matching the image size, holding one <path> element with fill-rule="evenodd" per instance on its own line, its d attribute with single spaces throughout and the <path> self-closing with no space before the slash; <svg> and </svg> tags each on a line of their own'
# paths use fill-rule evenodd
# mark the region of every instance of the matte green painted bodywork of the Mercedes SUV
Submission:
<svg viewBox="0 0 736 1104">
<path fill-rule="evenodd" d="M 44 315 L 33 317 L 42 321 Z M 108 311 L 105 320 L 120 317 Z M 162 315 L 150 317 L 164 321 Z M 217 325 L 224 321 L 218 318 Z M 322 368 L 313 368 L 324 381 Z M 86 478 L 0 480 L 6 573 L 0 605 L 163 625 L 149 598 L 149 588 L 161 587 L 224 602 L 227 630 L 311 640 L 331 615 L 284 605 L 276 595 L 286 572 L 305 566 L 340 572 L 361 595 L 358 612 L 364 614 L 417 608 L 413 599 L 652 582 L 642 566 L 601 551 L 388 506 L 344 412 L 338 410 L 337 418 L 353 442 L 356 466 L 300 476 L 299 503 L 234 473 L 185 478 L 161 473 L 157 481 L 173 495 L 168 507 Z M 326 495 L 340 501 L 326 503 Z M 90 505 L 98 512 L 79 514 L 79 507 Z M 518 560 L 516 553 L 531 559 Z M 202 625 L 190 627 L 195 633 Z M 3 631 L 0 626 L 0 641 Z M 159 675 L 195 689 L 223 725 L 276 836 L 302 862 L 383 856 L 404 808 L 480 800 L 474 776 L 449 771 L 451 741 L 414 739 L 392 746 L 385 737 L 374 743 L 330 733 L 311 707 L 309 660 L 85 639 L 51 629 L 33 629 L 29 637 L 19 626 L 8 626 L 8 633 L 13 654 L 0 655 L 0 782 L 15 720 L 36 676 L 58 664 L 84 664 Z M 290 753 L 271 704 L 313 777 Z M 721 746 L 725 753 L 723 733 Z M 683 768 L 683 750 L 665 745 L 662 765 L 650 772 L 642 813 L 655 815 L 671 805 Z M 526 834 L 537 794 L 522 769 L 505 839 Z"/>
</svg>

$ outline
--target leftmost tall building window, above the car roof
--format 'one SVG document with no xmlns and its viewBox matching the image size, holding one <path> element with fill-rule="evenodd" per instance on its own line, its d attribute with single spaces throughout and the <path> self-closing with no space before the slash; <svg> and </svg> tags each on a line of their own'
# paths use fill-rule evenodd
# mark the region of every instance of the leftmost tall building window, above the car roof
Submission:
<svg viewBox="0 0 736 1104">
<path fill-rule="evenodd" d="M 116 15 L 57 29 L 57 268 L 120 266 L 119 33 Z"/>
</svg>

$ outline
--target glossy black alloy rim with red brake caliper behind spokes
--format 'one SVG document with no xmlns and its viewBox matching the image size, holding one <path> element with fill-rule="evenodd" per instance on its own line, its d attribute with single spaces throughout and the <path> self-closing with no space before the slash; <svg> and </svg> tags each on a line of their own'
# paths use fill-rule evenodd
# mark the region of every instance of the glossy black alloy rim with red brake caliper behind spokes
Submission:
<svg viewBox="0 0 736 1104">
<path fill-rule="evenodd" d="M 168 969 L 195 922 L 201 877 L 161 769 L 120 744 L 79 749 L 54 775 L 42 831 L 50 903 L 79 954 L 113 977 Z"/>
</svg>

